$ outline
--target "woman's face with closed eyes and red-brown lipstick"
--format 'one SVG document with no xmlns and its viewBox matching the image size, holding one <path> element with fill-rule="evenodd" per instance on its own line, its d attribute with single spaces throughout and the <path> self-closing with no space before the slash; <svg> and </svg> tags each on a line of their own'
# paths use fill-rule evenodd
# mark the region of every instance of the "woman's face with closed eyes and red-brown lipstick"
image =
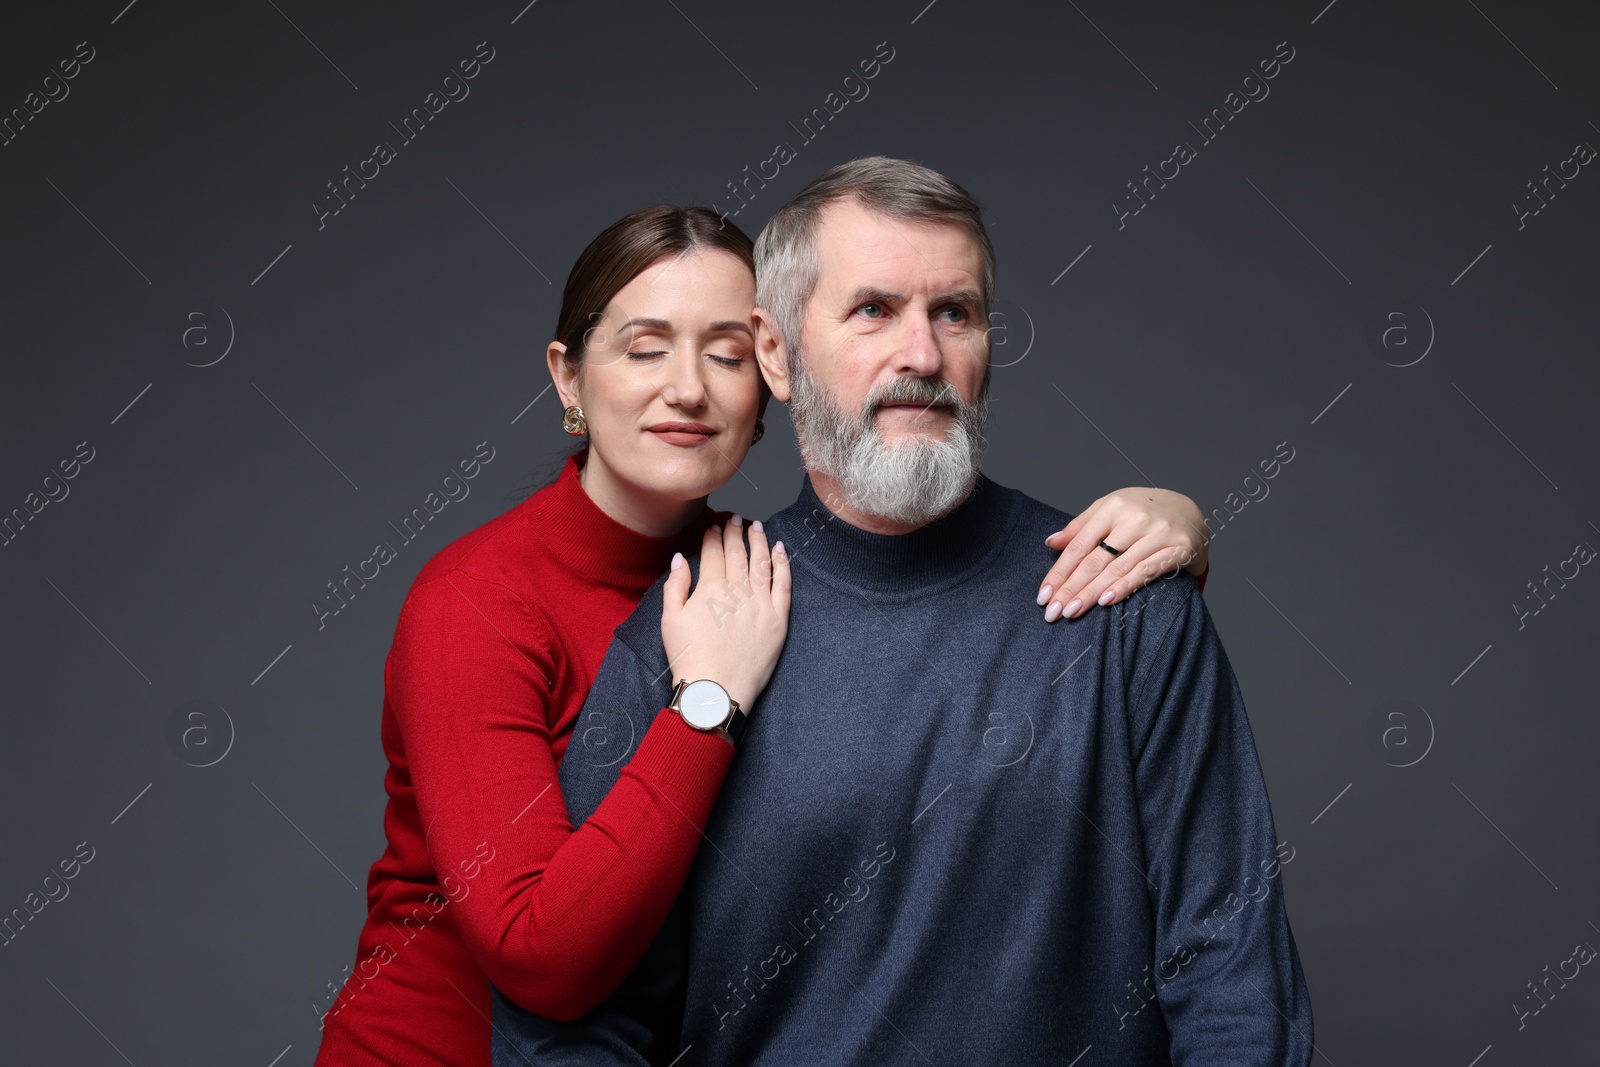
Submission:
<svg viewBox="0 0 1600 1067">
<path fill-rule="evenodd" d="M 587 331 L 579 371 L 550 370 L 589 422 L 584 488 L 634 507 L 694 501 L 726 483 L 755 432 L 755 278 L 738 256 L 667 256 L 622 286 Z"/>
</svg>

